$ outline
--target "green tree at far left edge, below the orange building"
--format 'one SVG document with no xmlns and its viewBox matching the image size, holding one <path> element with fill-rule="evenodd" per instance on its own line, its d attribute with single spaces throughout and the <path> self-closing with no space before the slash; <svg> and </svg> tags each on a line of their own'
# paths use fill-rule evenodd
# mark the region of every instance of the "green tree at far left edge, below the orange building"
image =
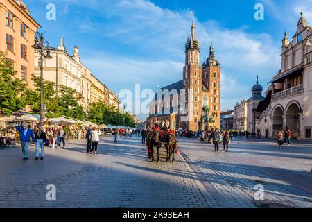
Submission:
<svg viewBox="0 0 312 222">
<path fill-rule="evenodd" d="M 0 51 L 0 112 L 10 115 L 25 107 L 23 98 L 26 84 L 15 78 L 13 64 L 6 53 Z"/>
</svg>

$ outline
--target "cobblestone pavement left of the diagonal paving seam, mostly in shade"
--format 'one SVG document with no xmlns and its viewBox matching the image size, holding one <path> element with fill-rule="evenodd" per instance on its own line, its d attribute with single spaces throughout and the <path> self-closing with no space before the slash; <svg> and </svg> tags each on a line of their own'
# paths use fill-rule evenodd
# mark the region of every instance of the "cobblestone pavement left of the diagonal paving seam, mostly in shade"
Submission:
<svg viewBox="0 0 312 222">
<path fill-rule="evenodd" d="M 21 160 L 21 149 L 0 150 L 0 207 L 209 207 L 205 187 L 179 156 L 176 162 L 150 162 L 138 138 L 106 137 L 98 155 L 85 153 L 85 141 L 46 148 L 44 160 Z M 164 154 L 165 151 L 162 151 Z M 46 185 L 56 201 L 46 200 Z"/>
</svg>

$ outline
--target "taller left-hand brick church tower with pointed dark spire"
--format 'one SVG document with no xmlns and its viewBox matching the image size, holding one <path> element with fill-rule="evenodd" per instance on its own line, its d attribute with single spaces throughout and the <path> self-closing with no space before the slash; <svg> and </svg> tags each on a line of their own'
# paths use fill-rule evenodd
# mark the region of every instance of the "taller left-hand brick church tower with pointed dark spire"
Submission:
<svg viewBox="0 0 312 222">
<path fill-rule="evenodd" d="M 187 110 L 188 121 L 182 121 L 183 128 L 198 130 L 200 114 L 202 109 L 202 68 L 200 66 L 200 40 L 196 37 L 196 26 L 191 25 L 191 36 L 187 37 L 185 44 L 185 66 L 183 68 L 183 89 L 186 93 L 185 110 Z M 185 120 L 185 115 L 182 116 Z"/>
</svg>

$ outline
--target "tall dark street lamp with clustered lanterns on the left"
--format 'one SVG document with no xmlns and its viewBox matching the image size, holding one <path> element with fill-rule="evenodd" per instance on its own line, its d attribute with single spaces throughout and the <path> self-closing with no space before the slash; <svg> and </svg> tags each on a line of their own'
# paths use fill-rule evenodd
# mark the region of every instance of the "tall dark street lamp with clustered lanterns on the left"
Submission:
<svg viewBox="0 0 312 222">
<path fill-rule="evenodd" d="M 42 33 L 35 33 L 35 44 L 32 46 L 37 49 L 40 55 L 40 125 L 44 125 L 44 103 L 43 103 L 43 62 L 44 58 L 51 59 L 49 42 L 46 41 Z"/>
</svg>

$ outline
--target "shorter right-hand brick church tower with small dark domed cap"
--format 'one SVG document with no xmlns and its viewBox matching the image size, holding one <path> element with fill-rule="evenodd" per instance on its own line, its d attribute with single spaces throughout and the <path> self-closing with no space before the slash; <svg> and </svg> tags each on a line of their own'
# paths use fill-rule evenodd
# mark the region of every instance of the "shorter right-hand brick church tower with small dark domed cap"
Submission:
<svg viewBox="0 0 312 222">
<path fill-rule="evenodd" d="M 209 57 L 202 64 L 202 86 L 202 89 L 207 90 L 209 94 L 207 105 L 214 121 L 213 126 L 220 128 L 221 65 L 214 56 L 214 46 L 212 43 Z"/>
</svg>

